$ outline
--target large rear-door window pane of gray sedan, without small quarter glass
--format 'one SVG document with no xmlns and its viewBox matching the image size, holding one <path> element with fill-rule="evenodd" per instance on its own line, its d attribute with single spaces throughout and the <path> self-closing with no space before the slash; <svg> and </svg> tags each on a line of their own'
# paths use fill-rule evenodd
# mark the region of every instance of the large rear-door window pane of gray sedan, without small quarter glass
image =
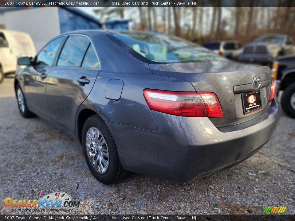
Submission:
<svg viewBox="0 0 295 221">
<path fill-rule="evenodd" d="M 89 44 L 87 37 L 69 36 L 61 50 L 57 66 L 80 67 Z"/>
</svg>

